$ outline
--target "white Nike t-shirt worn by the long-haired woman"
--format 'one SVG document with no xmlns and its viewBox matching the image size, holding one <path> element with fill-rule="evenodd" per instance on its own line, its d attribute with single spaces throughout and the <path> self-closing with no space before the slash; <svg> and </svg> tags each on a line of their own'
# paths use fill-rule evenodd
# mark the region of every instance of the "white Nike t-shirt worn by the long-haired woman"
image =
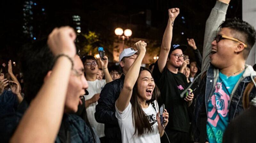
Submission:
<svg viewBox="0 0 256 143">
<path fill-rule="evenodd" d="M 132 122 L 132 104 L 126 107 L 123 112 L 118 111 L 116 108 L 116 118 L 122 133 L 123 143 L 160 143 L 160 134 L 158 131 L 158 124 L 156 121 L 156 112 L 158 112 L 158 104 L 154 101 L 156 110 L 152 104 L 148 108 L 142 108 L 149 119 L 149 123 L 153 126 L 153 132 L 145 133 L 138 136 L 138 132 L 134 135 L 135 127 Z"/>
</svg>

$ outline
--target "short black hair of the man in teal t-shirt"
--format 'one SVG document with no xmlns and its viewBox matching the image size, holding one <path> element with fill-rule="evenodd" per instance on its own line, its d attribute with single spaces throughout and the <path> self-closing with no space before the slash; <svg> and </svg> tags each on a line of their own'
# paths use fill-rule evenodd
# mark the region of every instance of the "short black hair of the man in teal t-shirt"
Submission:
<svg viewBox="0 0 256 143">
<path fill-rule="evenodd" d="M 227 20 L 225 20 L 220 25 L 220 28 L 225 28 L 225 27 L 234 30 L 236 34 L 237 32 L 240 33 L 242 38 L 245 39 L 245 41 L 243 42 L 247 45 L 247 47 L 244 49 L 243 54 L 244 54 L 244 59 L 247 59 L 250 53 L 250 50 L 252 49 L 252 46 L 255 43 L 255 39 L 256 39 L 255 29 L 249 23 L 238 18 L 228 18 Z M 239 37 L 236 37 L 236 38 L 239 39 Z"/>
</svg>

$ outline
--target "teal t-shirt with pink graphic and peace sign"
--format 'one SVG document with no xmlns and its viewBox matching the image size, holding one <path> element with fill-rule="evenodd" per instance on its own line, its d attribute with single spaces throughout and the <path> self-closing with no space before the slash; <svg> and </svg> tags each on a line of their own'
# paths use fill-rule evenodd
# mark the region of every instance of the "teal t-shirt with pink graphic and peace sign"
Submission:
<svg viewBox="0 0 256 143">
<path fill-rule="evenodd" d="M 206 128 L 209 143 L 222 143 L 223 134 L 228 126 L 230 94 L 243 73 L 228 77 L 219 72 L 215 90 L 207 105 Z"/>
</svg>

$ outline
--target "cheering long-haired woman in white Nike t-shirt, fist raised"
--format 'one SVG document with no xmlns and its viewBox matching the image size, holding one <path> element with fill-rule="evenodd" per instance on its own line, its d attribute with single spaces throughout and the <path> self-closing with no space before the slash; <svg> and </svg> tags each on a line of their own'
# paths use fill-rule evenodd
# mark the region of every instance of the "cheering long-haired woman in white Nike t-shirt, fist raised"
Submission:
<svg viewBox="0 0 256 143">
<path fill-rule="evenodd" d="M 156 98 L 160 95 L 149 69 L 140 68 L 146 54 L 144 41 L 138 41 L 138 57 L 128 70 L 124 87 L 116 100 L 116 118 L 122 133 L 123 143 L 159 143 L 168 124 L 165 110 L 164 125 L 161 125 Z"/>
</svg>

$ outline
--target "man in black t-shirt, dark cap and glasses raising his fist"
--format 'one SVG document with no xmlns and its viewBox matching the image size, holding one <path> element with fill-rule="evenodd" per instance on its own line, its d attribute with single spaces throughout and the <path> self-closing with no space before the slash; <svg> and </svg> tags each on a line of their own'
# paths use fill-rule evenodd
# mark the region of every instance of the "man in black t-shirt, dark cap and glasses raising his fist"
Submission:
<svg viewBox="0 0 256 143">
<path fill-rule="evenodd" d="M 185 75 L 178 72 L 182 66 L 186 50 L 185 45 L 172 45 L 172 28 L 175 18 L 179 14 L 178 8 L 169 9 L 169 20 L 164 32 L 159 59 L 153 69 L 153 77 L 161 91 L 158 104 L 165 105 L 171 120 L 165 128 L 168 138 L 172 143 L 187 143 L 189 131 L 188 106 L 193 100 L 193 93 L 181 98 L 180 93 L 187 88 L 188 82 Z M 161 142 L 168 143 L 166 136 Z"/>
</svg>

